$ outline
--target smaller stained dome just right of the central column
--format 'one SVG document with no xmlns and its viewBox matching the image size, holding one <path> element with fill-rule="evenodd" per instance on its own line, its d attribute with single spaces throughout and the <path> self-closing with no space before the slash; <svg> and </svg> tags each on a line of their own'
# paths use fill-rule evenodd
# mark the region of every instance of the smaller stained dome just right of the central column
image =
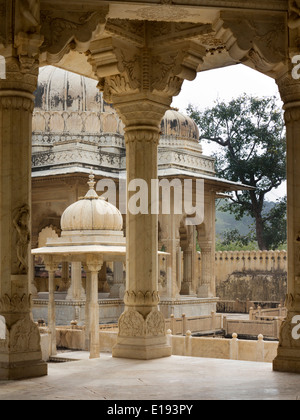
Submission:
<svg viewBox="0 0 300 420">
<path fill-rule="evenodd" d="M 197 124 L 187 115 L 172 109 L 165 113 L 161 122 L 162 137 L 173 137 L 180 140 L 199 140 Z"/>
</svg>

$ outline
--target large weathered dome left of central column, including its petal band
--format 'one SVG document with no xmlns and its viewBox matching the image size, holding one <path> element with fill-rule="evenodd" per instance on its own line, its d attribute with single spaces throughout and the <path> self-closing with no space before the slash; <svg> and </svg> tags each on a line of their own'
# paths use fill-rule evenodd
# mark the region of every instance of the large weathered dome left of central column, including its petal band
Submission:
<svg viewBox="0 0 300 420">
<path fill-rule="evenodd" d="M 123 123 L 103 100 L 98 82 L 53 66 L 40 69 L 35 91 L 33 142 L 64 141 L 66 136 L 123 135 Z M 48 137 L 45 140 L 44 137 Z M 97 136 L 97 137 L 95 137 Z"/>
</svg>

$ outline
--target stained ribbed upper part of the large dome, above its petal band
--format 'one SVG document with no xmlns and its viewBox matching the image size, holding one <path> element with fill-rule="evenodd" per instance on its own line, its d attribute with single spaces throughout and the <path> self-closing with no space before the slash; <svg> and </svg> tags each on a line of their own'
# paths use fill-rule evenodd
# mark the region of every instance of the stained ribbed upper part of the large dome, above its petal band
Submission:
<svg viewBox="0 0 300 420">
<path fill-rule="evenodd" d="M 40 69 L 35 108 L 43 111 L 102 111 L 97 81 L 56 67 Z"/>
</svg>

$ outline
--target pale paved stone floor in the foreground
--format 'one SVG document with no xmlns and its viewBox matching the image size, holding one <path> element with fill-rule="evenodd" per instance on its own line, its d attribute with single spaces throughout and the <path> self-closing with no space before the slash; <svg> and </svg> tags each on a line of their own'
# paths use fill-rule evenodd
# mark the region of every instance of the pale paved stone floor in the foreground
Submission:
<svg viewBox="0 0 300 420">
<path fill-rule="evenodd" d="M 0 400 L 297 400 L 300 375 L 268 363 L 172 356 L 136 361 L 88 353 L 50 363 L 48 376 L 0 382 Z"/>
</svg>

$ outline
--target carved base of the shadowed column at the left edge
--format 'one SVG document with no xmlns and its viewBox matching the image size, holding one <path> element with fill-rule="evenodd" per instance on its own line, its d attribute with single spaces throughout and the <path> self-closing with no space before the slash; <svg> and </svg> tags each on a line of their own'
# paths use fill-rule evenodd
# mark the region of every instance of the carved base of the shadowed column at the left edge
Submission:
<svg viewBox="0 0 300 420">
<path fill-rule="evenodd" d="M 47 375 L 47 363 L 42 361 L 40 333 L 30 315 L 1 315 L 0 380 L 35 378 Z M 7 322 L 8 321 L 8 322 Z"/>
</svg>

